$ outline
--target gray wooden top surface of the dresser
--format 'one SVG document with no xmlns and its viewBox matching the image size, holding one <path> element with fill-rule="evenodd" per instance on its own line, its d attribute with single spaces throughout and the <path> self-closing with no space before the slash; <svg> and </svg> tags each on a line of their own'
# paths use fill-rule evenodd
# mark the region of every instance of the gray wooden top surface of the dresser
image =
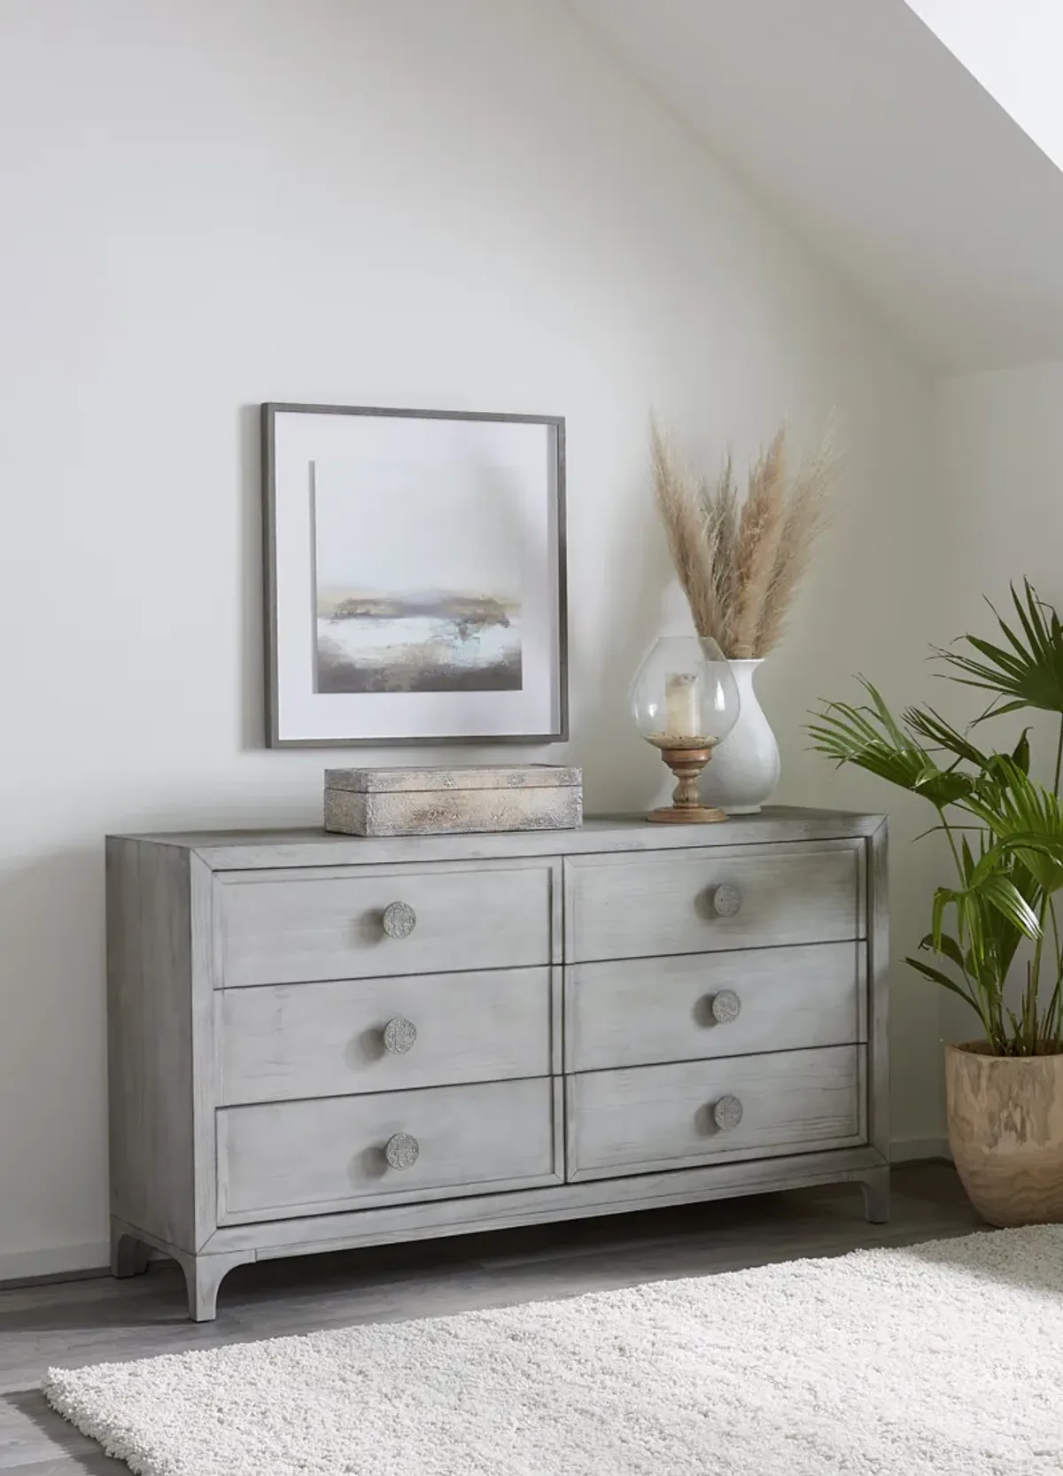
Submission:
<svg viewBox="0 0 1063 1476">
<path fill-rule="evenodd" d="M 292 830 L 133 834 L 143 841 L 195 852 L 214 871 L 267 866 L 344 866 L 369 862 L 478 861 L 506 856 L 577 856 L 613 850 L 688 850 L 766 841 L 850 840 L 874 835 L 881 815 L 769 806 L 722 825 L 651 825 L 642 815 L 599 815 L 579 830 L 505 831 L 471 835 L 332 835 L 314 827 Z"/>
</svg>

